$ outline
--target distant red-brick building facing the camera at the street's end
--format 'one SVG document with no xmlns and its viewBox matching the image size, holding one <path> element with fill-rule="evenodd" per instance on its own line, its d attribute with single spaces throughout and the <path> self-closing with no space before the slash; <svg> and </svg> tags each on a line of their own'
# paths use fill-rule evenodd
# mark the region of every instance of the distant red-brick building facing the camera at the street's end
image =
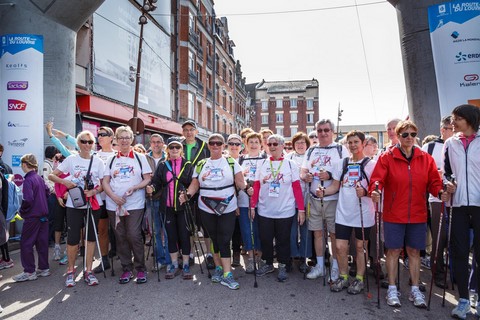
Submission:
<svg viewBox="0 0 480 320">
<path fill-rule="evenodd" d="M 314 130 L 318 113 L 318 81 L 265 81 L 248 84 L 254 117 L 250 126 L 255 131 L 270 129 L 290 139 L 299 131 Z"/>
</svg>

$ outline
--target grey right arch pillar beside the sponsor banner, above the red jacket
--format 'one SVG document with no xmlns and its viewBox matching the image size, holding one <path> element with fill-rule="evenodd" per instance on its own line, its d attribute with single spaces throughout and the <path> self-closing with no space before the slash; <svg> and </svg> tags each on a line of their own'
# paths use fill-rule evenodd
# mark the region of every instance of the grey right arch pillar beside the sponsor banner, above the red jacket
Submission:
<svg viewBox="0 0 480 320">
<path fill-rule="evenodd" d="M 388 0 L 397 10 L 410 119 L 420 137 L 439 134 L 440 104 L 433 65 L 428 7 L 445 0 Z"/>
</svg>

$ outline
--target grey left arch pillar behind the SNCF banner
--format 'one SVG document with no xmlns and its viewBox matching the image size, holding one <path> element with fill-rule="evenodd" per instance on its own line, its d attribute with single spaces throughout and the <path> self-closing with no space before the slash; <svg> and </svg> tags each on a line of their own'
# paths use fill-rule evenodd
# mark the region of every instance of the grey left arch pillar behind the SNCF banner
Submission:
<svg viewBox="0 0 480 320">
<path fill-rule="evenodd" d="M 44 116 L 39 125 L 54 117 L 56 128 L 75 133 L 77 31 L 103 1 L 12 0 L 0 3 L 1 34 L 28 33 L 44 37 Z"/>
</svg>

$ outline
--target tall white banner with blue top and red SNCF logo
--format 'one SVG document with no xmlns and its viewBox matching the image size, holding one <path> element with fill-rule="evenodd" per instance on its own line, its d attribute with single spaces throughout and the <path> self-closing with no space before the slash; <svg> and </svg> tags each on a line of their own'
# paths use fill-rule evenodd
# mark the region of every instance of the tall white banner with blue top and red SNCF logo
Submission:
<svg viewBox="0 0 480 320">
<path fill-rule="evenodd" d="M 43 163 L 43 36 L 7 34 L 0 39 L 2 160 L 21 186 L 22 155 L 33 153 Z"/>
</svg>

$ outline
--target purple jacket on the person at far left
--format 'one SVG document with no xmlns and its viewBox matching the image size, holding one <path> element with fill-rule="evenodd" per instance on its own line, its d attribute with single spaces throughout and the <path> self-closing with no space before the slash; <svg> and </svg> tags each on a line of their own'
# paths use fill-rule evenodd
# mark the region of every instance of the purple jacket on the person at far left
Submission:
<svg viewBox="0 0 480 320">
<path fill-rule="evenodd" d="M 28 172 L 23 181 L 23 201 L 19 213 L 23 219 L 48 216 L 48 186 L 35 170 Z"/>
</svg>

